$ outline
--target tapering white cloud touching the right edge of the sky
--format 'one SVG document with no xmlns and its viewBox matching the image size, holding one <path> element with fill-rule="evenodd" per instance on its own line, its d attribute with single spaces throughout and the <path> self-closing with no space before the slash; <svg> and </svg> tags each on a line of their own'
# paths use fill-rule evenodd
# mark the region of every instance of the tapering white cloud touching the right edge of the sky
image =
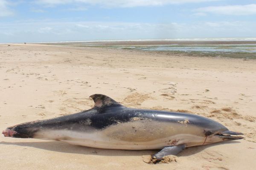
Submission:
<svg viewBox="0 0 256 170">
<path fill-rule="evenodd" d="M 198 8 L 196 12 L 214 13 L 224 15 L 253 15 L 256 14 L 256 4 L 235 5 L 235 6 L 208 6 Z"/>
</svg>

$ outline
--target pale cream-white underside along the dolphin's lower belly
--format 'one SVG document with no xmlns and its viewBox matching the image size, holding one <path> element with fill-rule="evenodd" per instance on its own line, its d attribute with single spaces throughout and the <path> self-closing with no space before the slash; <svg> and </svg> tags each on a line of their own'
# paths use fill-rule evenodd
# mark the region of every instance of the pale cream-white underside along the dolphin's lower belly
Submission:
<svg viewBox="0 0 256 170">
<path fill-rule="evenodd" d="M 189 146 L 201 145 L 204 143 L 205 137 L 192 134 L 175 134 L 173 136 L 157 138 L 154 140 L 122 140 L 114 139 L 104 130 L 97 130 L 93 133 L 76 132 L 71 130 L 47 130 L 36 133 L 35 138 L 58 140 L 69 144 L 95 147 L 102 149 L 121 149 L 121 150 L 151 150 L 162 149 L 166 146 L 177 144 L 187 144 Z"/>
</svg>

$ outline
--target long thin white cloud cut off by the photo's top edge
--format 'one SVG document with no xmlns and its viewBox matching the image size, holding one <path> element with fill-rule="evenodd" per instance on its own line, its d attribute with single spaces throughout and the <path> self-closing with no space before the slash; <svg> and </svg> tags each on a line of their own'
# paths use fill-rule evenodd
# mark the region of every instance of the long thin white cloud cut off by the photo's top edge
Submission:
<svg viewBox="0 0 256 170">
<path fill-rule="evenodd" d="M 218 0 L 37 0 L 36 3 L 47 6 L 56 6 L 68 3 L 85 3 L 101 7 L 136 7 L 136 6 L 163 6 L 167 4 L 201 3 Z"/>
</svg>

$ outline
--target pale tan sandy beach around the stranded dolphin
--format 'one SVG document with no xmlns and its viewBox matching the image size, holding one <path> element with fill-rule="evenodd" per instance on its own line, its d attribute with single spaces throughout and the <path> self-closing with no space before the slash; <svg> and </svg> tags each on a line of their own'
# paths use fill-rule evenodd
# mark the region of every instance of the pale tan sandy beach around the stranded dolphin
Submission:
<svg viewBox="0 0 256 170">
<path fill-rule="evenodd" d="M 245 134 L 189 147 L 170 164 L 147 164 L 157 150 L 104 150 L 0 136 L 1 170 L 254 170 L 256 60 L 170 56 L 148 51 L 54 45 L 0 45 L 0 130 L 76 113 L 88 97 L 209 117 Z"/>
</svg>

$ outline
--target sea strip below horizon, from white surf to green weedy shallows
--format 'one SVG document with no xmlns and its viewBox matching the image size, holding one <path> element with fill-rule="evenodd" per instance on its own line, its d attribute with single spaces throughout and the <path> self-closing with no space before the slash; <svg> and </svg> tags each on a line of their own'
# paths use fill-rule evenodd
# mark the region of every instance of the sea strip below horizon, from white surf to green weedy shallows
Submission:
<svg viewBox="0 0 256 170">
<path fill-rule="evenodd" d="M 77 47 L 102 47 L 122 50 L 155 51 L 165 52 L 168 54 L 186 54 L 198 57 L 256 59 L 255 37 L 88 40 L 37 43 L 71 45 Z"/>
</svg>

